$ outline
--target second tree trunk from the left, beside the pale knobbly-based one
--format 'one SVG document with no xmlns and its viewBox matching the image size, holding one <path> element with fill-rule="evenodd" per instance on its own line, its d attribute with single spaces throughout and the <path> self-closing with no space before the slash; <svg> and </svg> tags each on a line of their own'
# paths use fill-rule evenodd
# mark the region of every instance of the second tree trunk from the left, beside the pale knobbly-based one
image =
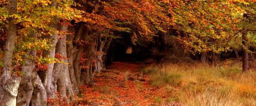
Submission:
<svg viewBox="0 0 256 106">
<path fill-rule="evenodd" d="M 36 38 L 36 34 L 31 34 L 32 38 Z M 33 43 L 34 41 L 31 41 Z M 24 75 L 21 76 L 21 82 L 18 89 L 17 105 L 29 105 L 32 94 L 33 94 L 33 85 L 32 85 L 32 72 L 34 70 L 34 57 L 36 56 L 35 50 L 28 50 L 27 56 L 24 57 L 24 64 L 22 65 L 21 73 Z M 31 58 L 32 57 L 32 58 Z"/>
</svg>

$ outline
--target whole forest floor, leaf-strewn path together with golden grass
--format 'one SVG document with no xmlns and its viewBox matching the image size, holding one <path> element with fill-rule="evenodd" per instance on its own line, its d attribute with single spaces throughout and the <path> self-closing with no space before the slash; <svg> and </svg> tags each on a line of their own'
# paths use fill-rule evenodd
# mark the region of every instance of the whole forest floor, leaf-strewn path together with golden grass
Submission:
<svg viewBox="0 0 256 106">
<path fill-rule="evenodd" d="M 256 71 L 240 61 L 142 64 L 113 62 L 95 73 L 73 105 L 256 105 Z"/>
</svg>

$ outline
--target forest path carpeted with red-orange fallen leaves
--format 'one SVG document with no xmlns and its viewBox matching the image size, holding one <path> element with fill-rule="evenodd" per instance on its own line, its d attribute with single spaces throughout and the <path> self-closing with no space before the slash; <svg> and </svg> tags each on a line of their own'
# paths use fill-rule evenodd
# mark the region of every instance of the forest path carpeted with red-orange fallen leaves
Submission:
<svg viewBox="0 0 256 106">
<path fill-rule="evenodd" d="M 84 86 L 86 105 L 157 105 L 166 92 L 149 84 L 149 76 L 138 72 L 149 65 L 113 62 L 108 70 L 95 74 L 95 85 Z"/>
</svg>

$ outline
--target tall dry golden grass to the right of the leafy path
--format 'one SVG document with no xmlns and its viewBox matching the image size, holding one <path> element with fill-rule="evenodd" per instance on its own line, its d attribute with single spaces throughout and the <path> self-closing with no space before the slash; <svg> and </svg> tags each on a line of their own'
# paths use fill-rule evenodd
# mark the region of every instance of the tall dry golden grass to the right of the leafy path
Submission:
<svg viewBox="0 0 256 106">
<path fill-rule="evenodd" d="M 183 105 L 256 105 L 256 73 L 242 74 L 241 63 L 167 64 L 144 69 L 153 86 L 165 87 L 166 102 Z M 153 70 L 154 69 L 154 70 Z"/>
</svg>

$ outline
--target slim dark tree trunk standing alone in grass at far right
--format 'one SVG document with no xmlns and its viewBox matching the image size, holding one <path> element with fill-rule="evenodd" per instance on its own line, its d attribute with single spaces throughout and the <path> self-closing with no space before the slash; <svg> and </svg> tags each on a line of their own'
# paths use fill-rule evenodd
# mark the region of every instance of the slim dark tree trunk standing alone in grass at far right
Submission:
<svg viewBox="0 0 256 106">
<path fill-rule="evenodd" d="M 243 44 L 243 48 L 242 48 L 242 72 L 243 73 L 247 73 L 249 72 L 249 57 L 248 57 L 248 46 L 247 46 L 247 31 L 243 31 L 242 32 L 242 44 Z"/>
</svg>

